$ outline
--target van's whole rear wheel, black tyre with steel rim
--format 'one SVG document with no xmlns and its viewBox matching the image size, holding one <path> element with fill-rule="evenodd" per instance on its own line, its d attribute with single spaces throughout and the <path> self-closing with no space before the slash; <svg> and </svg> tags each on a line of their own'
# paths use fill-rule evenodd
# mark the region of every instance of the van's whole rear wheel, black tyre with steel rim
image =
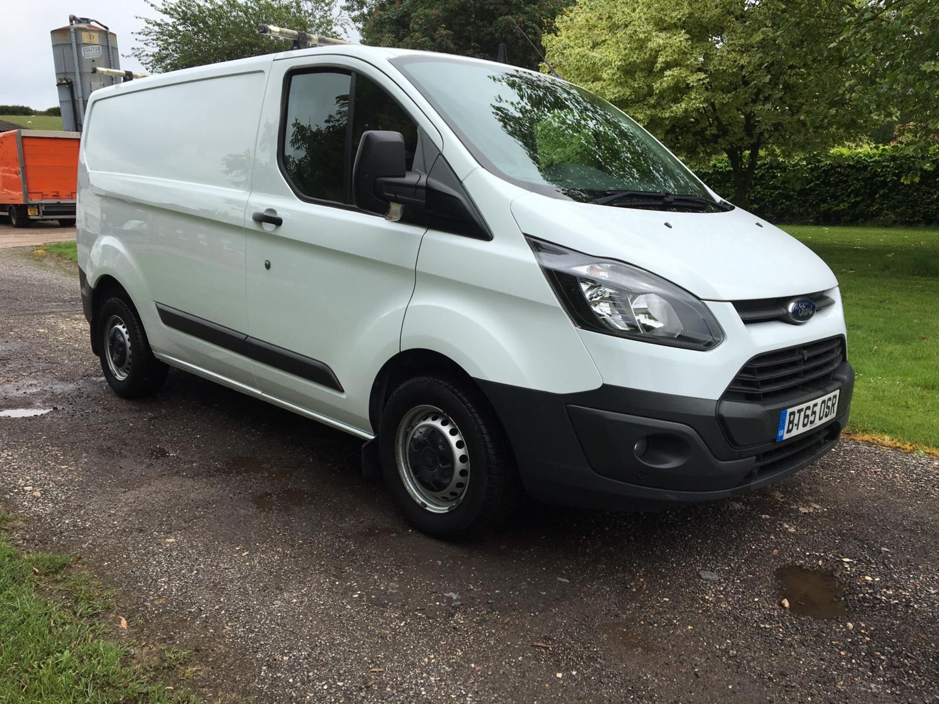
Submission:
<svg viewBox="0 0 939 704">
<path fill-rule="evenodd" d="M 141 398 L 160 390 L 168 368 L 153 356 L 144 324 L 131 302 L 108 298 L 97 320 L 101 371 L 115 393 Z"/>
</svg>

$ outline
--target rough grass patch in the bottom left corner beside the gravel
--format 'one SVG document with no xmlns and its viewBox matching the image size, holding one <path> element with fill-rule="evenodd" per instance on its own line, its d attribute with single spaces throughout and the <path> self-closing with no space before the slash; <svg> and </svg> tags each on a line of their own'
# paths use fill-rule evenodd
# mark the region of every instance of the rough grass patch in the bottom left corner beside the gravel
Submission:
<svg viewBox="0 0 939 704">
<path fill-rule="evenodd" d="M 105 619 L 109 595 L 68 556 L 16 550 L 8 523 L 0 514 L 0 702 L 197 701 L 162 682 L 177 677 L 178 653 L 134 662 Z"/>
</svg>

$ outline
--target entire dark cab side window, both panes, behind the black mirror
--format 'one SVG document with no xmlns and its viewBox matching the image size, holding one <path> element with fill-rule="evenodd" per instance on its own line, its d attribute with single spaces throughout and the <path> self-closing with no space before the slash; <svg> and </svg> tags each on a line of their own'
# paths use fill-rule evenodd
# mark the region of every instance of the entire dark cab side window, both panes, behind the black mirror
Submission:
<svg viewBox="0 0 939 704">
<path fill-rule="evenodd" d="M 293 73 L 286 98 L 281 163 L 301 196 L 352 205 L 352 166 L 366 130 L 401 132 L 408 169 L 412 167 L 417 125 L 361 73 L 342 69 Z"/>
</svg>

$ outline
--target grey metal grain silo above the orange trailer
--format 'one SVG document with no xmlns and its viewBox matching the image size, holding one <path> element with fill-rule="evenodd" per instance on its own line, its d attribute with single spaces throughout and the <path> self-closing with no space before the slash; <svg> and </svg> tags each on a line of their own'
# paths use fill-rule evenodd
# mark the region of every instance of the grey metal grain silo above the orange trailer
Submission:
<svg viewBox="0 0 939 704">
<path fill-rule="evenodd" d="M 62 129 L 81 131 L 91 91 L 120 82 L 118 77 L 94 73 L 95 67 L 120 68 L 117 37 L 97 20 L 75 15 L 51 35 Z"/>
</svg>

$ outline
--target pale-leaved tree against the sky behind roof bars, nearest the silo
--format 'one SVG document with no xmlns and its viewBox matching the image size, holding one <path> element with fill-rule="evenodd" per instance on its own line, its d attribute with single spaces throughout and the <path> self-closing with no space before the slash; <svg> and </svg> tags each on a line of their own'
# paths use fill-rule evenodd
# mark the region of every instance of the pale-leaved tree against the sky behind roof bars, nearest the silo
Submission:
<svg viewBox="0 0 939 704">
<path fill-rule="evenodd" d="M 264 37 L 261 24 L 340 36 L 346 21 L 336 0 L 162 0 L 147 5 L 162 18 L 142 18 L 131 54 L 150 71 L 188 69 L 290 48 Z"/>
</svg>

